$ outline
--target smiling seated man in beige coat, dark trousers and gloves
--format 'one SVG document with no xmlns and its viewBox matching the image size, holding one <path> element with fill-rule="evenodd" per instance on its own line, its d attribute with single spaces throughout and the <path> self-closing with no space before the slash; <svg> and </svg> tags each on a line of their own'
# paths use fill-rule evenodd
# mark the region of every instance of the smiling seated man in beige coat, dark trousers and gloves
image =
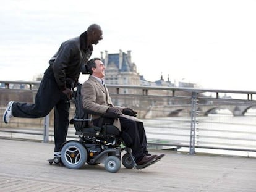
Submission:
<svg viewBox="0 0 256 192">
<path fill-rule="evenodd" d="M 151 156 L 147 151 L 145 130 L 141 120 L 135 117 L 137 112 L 113 105 L 103 80 L 105 69 L 101 59 L 95 58 L 88 61 L 87 70 L 90 77 L 82 85 L 83 107 L 113 117 L 106 119 L 104 123 L 112 123 L 121 130 L 121 138 L 126 146 L 132 148 L 132 155 L 137 165 L 160 159 L 164 154 Z M 98 125 L 98 122 L 98 116 L 93 115 L 93 123 Z"/>
</svg>

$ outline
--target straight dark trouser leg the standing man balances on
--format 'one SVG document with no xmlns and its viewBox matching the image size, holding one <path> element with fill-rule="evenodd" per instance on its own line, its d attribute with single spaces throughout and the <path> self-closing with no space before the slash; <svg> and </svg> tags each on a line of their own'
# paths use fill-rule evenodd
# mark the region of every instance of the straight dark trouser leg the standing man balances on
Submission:
<svg viewBox="0 0 256 192">
<path fill-rule="evenodd" d="M 61 146 L 66 142 L 67 130 L 69 128 L 70 102 L 66 94 L 61 94 L 61 101 L 54 106 L 54 152 L 61 151 Z"/>
</svg>

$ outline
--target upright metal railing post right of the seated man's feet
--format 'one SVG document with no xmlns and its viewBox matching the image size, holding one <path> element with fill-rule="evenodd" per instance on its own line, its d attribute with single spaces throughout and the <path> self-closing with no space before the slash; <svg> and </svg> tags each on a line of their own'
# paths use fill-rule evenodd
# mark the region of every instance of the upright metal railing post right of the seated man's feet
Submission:
<svg viewBox="0 0 256 192">
<path fill-rule="evenodd" d="M 189 154 L 195 154 L 195 131 L 197 131 L 197 125 L 198 125 L 198 120 L 197 120 L 197 93 L 192 92 L 192 97 L 191 97 L 191 127 L 190 127 L 190 144 L 189 144 Z M 198 135 L 197 135 L 198 138 Z"/>
</svg>

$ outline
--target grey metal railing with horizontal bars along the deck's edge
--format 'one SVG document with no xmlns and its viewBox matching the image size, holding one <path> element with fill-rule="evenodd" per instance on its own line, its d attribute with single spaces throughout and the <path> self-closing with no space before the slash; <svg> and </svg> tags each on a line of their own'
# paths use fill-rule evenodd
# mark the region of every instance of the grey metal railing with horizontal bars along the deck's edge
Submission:
<svg viewBox="0 0 256 192">
<path fill-rule="evenodd" d="M 7 93 L 8 90 L 11 90 L 11 93 L 27 90 L 35 94 L 40 85 L 40 82 L 33 81 L 0 81 L 0 83 L 2 85 L 1 94 Z M 22 89 L 19 85 L 22 85 Z M 254 109 L 256 91 L 163 86 L 107 86 L 114 104 L 132 107 L 138 111 L 139 117 L 145 124 L 148 144 L 174 146 L 175 148 L 185 147 L 189 148 L 189 154 L 195 154 L 197 148 L 256 152 L 255 116 L 246 117 L 247 122 L 250 123 L 239 123 L 237 122 L 239 119 L 236 119 L 236 117 L 244 117 L 249 109 Z M 3 111 L 4 106 L 1 106 L 1 109 Z M 223 121 L 223 117 L 211 122 L 213 119 L 208 115 L 215 114 L 219 109 L 229 109 L 231 112 L 229 116 L 233 118 L 234 122 L 227 124 Z M 74 106 L 71 107 L 71 117 L 73 114 Z M 32 122 L 26 123 L 24 120 L 14 121 L 17 123 L 17 128 L 14 130 L 12 127 L 12 130 L 9 131 L 2 123 L 0 132 L 11 133 L 12 131 L 12 135 L 15 133 L 43 135 L 43 141 L 48 142 L 49 137 L 53 137 L 52 122 L 51 114 L 44 120 L 40 120 L 39 127 L 43 127 L 43 133 L 35 131 L 33 128 L 36 126 L 32 125 Z M 28 124 L 33 128 L 30 131 L 23 131 Z M 199 127 L 199 124 L 202 125 L 202 128 Z M 225 126 L 229 124 L 236 128 L 226 128 Z M 237 128 L 239 126 L 242 130 Z M 69 137 L 75 138 L 74 131 L 69 132 Z"/>
</svg>

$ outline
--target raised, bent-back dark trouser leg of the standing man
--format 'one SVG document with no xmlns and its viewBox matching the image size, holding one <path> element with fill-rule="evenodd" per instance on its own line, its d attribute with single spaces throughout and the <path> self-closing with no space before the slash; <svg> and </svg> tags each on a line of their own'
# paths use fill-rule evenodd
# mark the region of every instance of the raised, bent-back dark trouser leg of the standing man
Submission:
<svg viewBox="0 0 256 192">
<path fill-rule="evenodd" d="M 61 91 L 56 84 L 54 75 L 48 69 L 36 93 L 35 104 L 14 102 L 12 104 L 12 115 L 25 118 L 45 117 L 59 101 L 60 94 Z"/>
</svg>

